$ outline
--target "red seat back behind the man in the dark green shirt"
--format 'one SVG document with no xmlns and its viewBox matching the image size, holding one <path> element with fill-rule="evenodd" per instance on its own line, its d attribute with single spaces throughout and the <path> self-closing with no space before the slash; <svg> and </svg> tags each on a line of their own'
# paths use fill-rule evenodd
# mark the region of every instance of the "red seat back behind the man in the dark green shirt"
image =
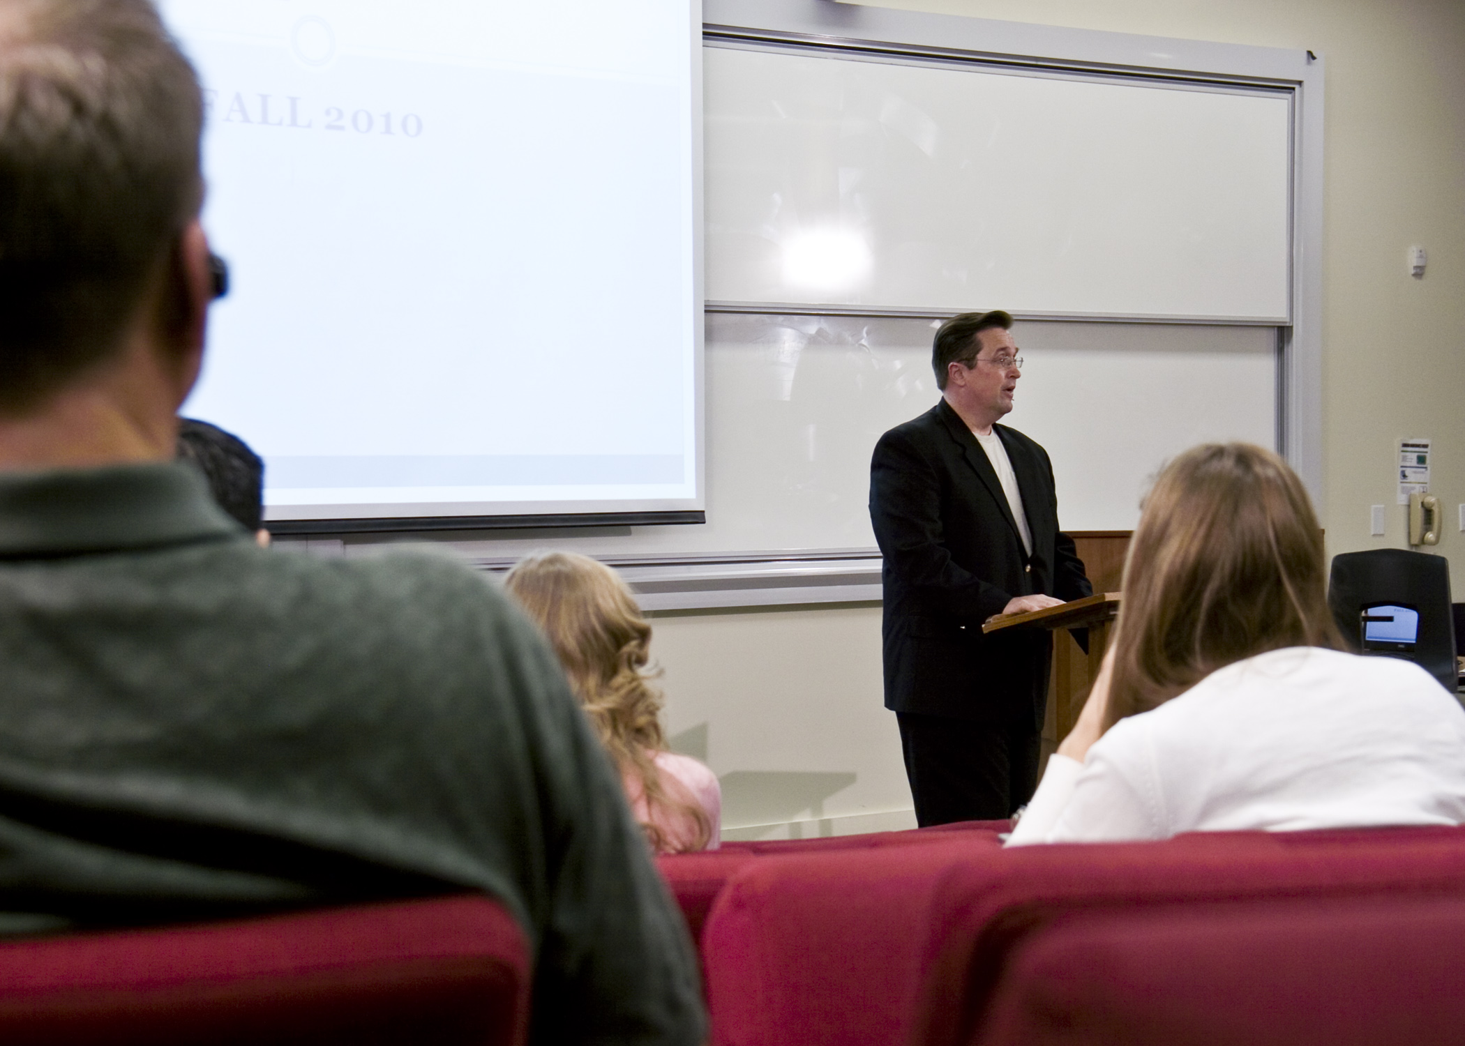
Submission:
<svg viewBox="0 0 1465 1046">
<path fill-rule="evenodd" d="M 530 965 L 483 897 L 0 943 L 0 1042 L 520 1043 Z"/>
</svg>

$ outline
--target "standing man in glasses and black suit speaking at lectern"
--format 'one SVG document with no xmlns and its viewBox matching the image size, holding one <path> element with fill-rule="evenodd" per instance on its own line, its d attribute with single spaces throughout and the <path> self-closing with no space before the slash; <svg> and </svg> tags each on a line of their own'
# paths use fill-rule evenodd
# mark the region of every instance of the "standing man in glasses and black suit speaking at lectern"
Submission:
<svg viewBox="0 0 1465 1046">
<path fill-rule="evenodd" d="M 880 437 L 870 461 L 885 706 L 921 825 L 1006 817 L 1031 798 L 1052 637 L 982 624 L 1093 592 L 1058 529 L 1047 451 L 996 423 L 1023 366 L 1011 327 L 1006 312 L 942 324 L 941 403 Z"/>
</svg>

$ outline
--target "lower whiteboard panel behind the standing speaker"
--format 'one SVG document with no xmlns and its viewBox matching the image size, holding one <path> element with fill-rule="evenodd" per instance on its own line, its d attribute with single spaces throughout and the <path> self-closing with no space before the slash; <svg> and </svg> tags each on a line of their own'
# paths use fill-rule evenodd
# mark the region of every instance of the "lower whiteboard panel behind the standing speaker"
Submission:
<svg viewBox="0 0 1465 1046">
<path fill-rule="evenodd" d="M 522 532 L 456 542 L 483 557 L 869 549 L 870 454 L 939 398 L 935 324 L 911 318 L 711 315 L 708 522 Z M 1128 530 L 1150 478 L 1197 442 L 1276 447 L 1276 330 L 1018 322 L 1004 419 L 1053 460 L 1059 523 Z"/>
</svg>

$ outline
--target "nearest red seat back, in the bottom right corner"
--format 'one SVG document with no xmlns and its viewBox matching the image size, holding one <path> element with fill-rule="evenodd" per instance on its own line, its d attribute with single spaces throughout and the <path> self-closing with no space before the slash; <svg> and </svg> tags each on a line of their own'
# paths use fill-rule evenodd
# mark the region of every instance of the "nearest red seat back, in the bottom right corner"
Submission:
<svg viewBox="0 0 1465 1046">
<path fill-rule="evenodd" d="M 987 1046 L 1430 1046 L 1465 1034 L 1465 901 L 1074 914 L 1018 945 Z"/>
</svg>

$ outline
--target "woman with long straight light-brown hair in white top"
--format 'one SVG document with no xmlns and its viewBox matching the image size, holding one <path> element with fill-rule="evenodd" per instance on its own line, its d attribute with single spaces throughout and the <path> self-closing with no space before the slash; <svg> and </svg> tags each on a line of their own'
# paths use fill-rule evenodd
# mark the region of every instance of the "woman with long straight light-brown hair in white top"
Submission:
<svg viewBox="0 0 1465 1046">
<path fill-rule="evenodd" d="M 1340 650 L 1317 517 L 1272 451 L 1160 473 L 1115 633 L 1009 845 L 1465 820 L 1465 711 L 1418 665 Z"/>
</svg>

